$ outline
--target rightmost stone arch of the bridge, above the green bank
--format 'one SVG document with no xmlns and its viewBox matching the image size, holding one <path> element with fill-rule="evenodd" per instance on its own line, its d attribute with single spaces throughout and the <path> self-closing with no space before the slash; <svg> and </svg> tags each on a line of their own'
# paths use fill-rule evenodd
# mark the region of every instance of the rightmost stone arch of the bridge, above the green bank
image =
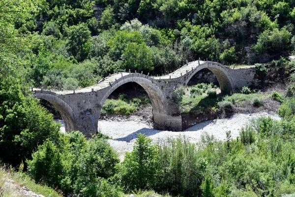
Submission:
<svg viewBox="0 0 295 197">
<path fill-rule="evenodd" d="M 217 81 L 219 83 L 220 89 L 222 93 L 229 94 L 234 91 L 234 81 L 231 77 L 231 74 L 227 71 L 229 68 L 227 68 L 224 65 L 221 65 L 219 63 L 213 63 L 213 62 L 206 62 L 200 66 L 197 66 L 187 77 L 185 84 L 190 81 L 190 79 L 200 70 L 207 68 L 210 71 L 213 72 L 213 74 L 216 76 Z"/>
</svg>

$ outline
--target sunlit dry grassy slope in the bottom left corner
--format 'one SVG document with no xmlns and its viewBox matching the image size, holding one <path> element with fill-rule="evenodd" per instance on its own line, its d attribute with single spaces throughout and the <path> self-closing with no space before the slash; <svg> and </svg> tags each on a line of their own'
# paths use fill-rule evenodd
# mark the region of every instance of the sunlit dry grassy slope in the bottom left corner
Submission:
<svg viewBox="0 0 295 197">
<path fill-rule="evenodd" d="M 0 166 L 0 196 L 3 197 L 22 197 L 21 194 L 18 195 L 11 187 L 5 187 L 5 182 L 7 180 L 13 180 L 17 187 L 26 186 L 30 191 L 36 193 L 37 195 L 43 195 L 45 197 L 62 197 L 54 189 L 47 186 L 42 186 L 36 184 L 29 175 L 25 173 L 15 172 L 12 170 L 7 170 L 3 166 Z M 11 183 L 12 184 L 12 183 Z M 2 197 L 1 196 L 1 197 Z"/>
</svg>

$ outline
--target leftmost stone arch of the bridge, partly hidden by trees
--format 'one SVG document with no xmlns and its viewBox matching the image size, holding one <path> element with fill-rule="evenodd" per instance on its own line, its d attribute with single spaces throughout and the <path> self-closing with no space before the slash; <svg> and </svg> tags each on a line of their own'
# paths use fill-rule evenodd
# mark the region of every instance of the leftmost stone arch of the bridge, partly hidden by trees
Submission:
<svg viewBox="0 0 295 197">
<path fill-rule="evenodd" d="M 57 108 L 64 122 L 65 131 L 77 130 L 74 110 L 67 102 L 59 98 L 58 94 L 51 91 L 35 91 L 35 97 L 47 100 Z"/>
</svg>

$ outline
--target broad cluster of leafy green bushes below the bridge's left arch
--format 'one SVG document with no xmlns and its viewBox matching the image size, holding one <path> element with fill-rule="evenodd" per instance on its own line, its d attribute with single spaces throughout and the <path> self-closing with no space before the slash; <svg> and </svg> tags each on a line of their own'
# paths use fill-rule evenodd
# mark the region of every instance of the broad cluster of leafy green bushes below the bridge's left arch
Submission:
<svg viewBox="0 0 295 197">
<path fill-rule="evenodd" d="M 78 131 L 62 134 L 39 146 L 27 163 L 37 182 L 59 188 L 65 195 L 119 196 L 116 186 L 106 180 L 115 174 L 118 158 L 105 139 L 87 141 Z"/>
</svg>

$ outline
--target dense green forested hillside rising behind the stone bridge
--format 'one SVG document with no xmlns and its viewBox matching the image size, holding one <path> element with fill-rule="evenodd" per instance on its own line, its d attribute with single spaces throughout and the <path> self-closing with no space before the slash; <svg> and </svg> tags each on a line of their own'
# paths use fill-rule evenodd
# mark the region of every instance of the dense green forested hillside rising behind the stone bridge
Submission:
<svg viewBox="0 0 295 197">
<path fill-rule="evenodd" d="M 260 63 L 295 48 L 292 0 L 1 2 L 2 39 L 29 42 L 19 58 L 33 87 L 87 87 L 124 69 L 160 75 L 198 58 Z"/>
</svg>

